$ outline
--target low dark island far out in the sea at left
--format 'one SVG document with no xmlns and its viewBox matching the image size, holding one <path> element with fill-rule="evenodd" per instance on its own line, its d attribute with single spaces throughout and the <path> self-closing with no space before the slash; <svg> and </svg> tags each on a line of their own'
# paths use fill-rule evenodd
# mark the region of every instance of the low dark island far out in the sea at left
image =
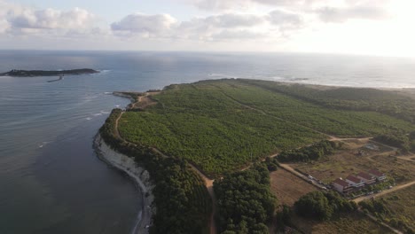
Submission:
<svg viewBox="0 0 415 234">
<path fill-rule="evenodd" d="M 10 72 L 0 74 L 0 76 L 13 76 L 13 77 L 33 77 L 33 76 L 62 76 L 62 75 L 78 75 L 78 74 L 98 74 L 99 71 L 82 68 L 72 70 L 56 70 L 56 71 L 44 71 L 44 70 L 16 70 L 13 69 Z"/>
</svg>

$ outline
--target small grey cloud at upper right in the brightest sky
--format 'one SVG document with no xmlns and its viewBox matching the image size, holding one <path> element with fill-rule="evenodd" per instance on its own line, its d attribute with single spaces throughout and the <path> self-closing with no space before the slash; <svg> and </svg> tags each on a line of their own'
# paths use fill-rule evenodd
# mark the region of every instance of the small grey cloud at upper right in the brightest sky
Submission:
<svg viewBox="0 0 415 234">
<path fill-rule="evenodd" d="M 347 20 L 384 20 L 388 12 L 378 6 L 356 5 L 352 7 L 324 7 L 317 10 L 321 20 L 325 22 L 345 22 Z"/>
</svg>

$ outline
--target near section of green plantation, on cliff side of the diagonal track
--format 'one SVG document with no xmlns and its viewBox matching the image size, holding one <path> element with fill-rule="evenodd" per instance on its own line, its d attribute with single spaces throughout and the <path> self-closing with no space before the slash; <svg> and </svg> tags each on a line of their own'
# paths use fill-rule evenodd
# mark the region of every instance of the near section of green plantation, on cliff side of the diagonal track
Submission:
<svg viewBox="0 0 415 234">
<path fill-rule="evenodd" d="M 325 138 L 240 105 L 209 84 L 172 85 L 153 99 L 159 104 L 122 115 L 121 136 L 191 160 L 210 175 Z"/>
</svg>

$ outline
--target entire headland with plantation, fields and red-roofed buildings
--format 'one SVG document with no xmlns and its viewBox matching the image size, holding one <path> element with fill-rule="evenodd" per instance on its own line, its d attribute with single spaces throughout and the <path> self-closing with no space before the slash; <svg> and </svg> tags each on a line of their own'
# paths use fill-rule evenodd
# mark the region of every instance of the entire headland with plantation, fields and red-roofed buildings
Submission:
<svg viewBox="0 0 415 234">
<path fill-rule="evenodd" d="M 144 184 L 138 233 L 415 229 L 411 90 L 223 79 L 114 94 L 132 103 L 96 148 Z"/>
</svg>

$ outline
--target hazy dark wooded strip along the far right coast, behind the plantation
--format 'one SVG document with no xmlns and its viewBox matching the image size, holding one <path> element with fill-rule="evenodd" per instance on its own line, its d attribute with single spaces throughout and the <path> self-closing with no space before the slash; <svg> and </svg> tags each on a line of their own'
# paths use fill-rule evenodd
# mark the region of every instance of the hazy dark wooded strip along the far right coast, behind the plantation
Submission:
<svg viewBox="0 0 415 234">
<path fill-rule="evenodd" d="M 413 98 L 391 90 L 369 88 L 314 89 L 302 84 L 281 84 L 278 82 L 258 82 L 245 80 L 267 90 L 278 91 L 330 108 L 355 111 L 376 111 L 405 121 L 415 121 L 415 101 Z"/>
</svg>

